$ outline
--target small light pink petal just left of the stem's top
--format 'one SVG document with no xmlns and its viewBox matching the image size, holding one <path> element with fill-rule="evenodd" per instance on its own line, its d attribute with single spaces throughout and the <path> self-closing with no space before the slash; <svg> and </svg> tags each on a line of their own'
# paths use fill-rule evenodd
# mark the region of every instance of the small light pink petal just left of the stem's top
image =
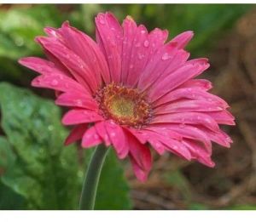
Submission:
<svg viewBox="0 0 256 222">
<path fill-rule="evenodd" d="M 94 126 L 87 129 L 82 138 L 82 147 L 90 148 L 95 145 L 99 145 L 103 142 L 102 137 L 96 132 L 96 128 Z M 106 148 L 107 149 L 107 148 Z"/>
</svg>

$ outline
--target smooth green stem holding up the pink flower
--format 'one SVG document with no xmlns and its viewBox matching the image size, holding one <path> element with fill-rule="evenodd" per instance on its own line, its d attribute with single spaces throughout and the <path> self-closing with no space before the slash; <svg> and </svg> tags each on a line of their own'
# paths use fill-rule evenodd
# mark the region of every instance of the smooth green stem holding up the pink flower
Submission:
<svg viewBox="0 0 256 222">
<path fill-rule="evenodd" d="M 84 178 L 84 185 L 80 197 L 79 208 L 84 210 L 93 210 L 95 206 L 96 191 L 102 172 L 102 166 L 108 153 L 105 145 L 98 145 L 96 151 L 90 159 Z"/>
</svg>

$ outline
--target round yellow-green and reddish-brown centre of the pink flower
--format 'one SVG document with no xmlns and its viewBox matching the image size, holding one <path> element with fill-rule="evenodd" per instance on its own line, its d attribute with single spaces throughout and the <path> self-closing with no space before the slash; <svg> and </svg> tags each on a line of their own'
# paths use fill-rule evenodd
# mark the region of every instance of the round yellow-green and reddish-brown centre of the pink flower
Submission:
<svg viewBox="0 0 256 222">
<path fill-rule="evenodd" d="M 150 105 L 137 89 L 111 83 L 96 93 L 96 100 L 102 116 L 119 124 L 141 128 L 150 120 Z"/>
</svg>

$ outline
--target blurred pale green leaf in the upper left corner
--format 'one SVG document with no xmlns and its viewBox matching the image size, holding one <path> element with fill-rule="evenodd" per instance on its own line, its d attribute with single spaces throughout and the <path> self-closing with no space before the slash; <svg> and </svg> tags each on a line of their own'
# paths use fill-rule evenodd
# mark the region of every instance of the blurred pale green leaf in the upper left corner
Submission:
<svg viewBox="0 0 256 222">
<path fill-rule="evenodd" d="M 0 10 L 0 56 L 16 60 L 38 54 L 41 49 L 34 37 L 42 35 L 45 26 L 59 26 L 61 20 L 55 5 Z"/>
</svg>

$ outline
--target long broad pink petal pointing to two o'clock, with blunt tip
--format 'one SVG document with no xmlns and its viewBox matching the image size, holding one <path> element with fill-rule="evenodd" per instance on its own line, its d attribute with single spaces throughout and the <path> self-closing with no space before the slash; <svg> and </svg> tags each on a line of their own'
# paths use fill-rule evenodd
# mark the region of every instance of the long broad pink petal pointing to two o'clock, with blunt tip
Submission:
<svg viewBox="0 0 256 222">
<path fill-rule="evenodd" d="M 170 92 L 173 88 L 177 88 L 182 83 L 185 83 L 190 78 L 196 77 L 205 71 L 209 67 L 207 60 L 190 60 L 183 65 L 177 71 L 172 72 L 166 78 L 163 78 L 160 83 L 158 83 L 149 92 L 149 98 L 154 101 L 159 99 L 161 96 Z"/>
</svg>

